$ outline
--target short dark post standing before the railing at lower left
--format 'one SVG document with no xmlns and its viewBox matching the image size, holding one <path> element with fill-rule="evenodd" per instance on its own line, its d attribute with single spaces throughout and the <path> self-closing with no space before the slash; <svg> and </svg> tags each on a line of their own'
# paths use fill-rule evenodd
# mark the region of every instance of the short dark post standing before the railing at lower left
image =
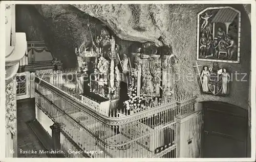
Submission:
<svg viewBox="0 0 256 162">
<path fill-rule="evenodd" d="M 60 150 L 60 124 L 54 123 L 50 126 L 52 129 L 52 147 L 54 150 Z"/>
</svg>

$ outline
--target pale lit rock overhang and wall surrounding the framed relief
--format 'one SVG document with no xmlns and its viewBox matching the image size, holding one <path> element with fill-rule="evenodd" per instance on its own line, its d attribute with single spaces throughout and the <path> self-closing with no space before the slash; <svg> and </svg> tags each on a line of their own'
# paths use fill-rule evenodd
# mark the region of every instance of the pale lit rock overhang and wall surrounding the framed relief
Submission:
<svg viewBox="0 0 256 162">
<path fill-rule="evenodd" d="M 174 73 L 181 78 L 176 82 L 176 90 L 196 92 L 198 101 L 222 101 L 247 109 L 249 92 L 249 72 L 251 58 L 251 26 L 249 5 L 214 4 L 118 4 L 118 5 L 74 5 L 81 11 L 98 18 L 125 40 L 152 41 L 172 47 L 178 58 Z M 230 83 L 227 97 L 205 95 L 200 92 L 196 65 L 197 14 L 207 7 L 230 6 L 241 12 L 240 64 L 219 63 L 230 73 L 247 73 L 244 80 Z M 213 62 L 198 61 L 200 65 L 212 66 Z M 193 74 L 193 81 L 187 74 Z M 176 75 L 174 75 L 175 77 Z M 191 75 L 188 76 L 191 79 Z M 234 76 L 235 77 L 235 76 Z M 238 75 L 242 79 L 243 75 Z M 178 79 L 178 78 L 175 78 Z"/>
</svg>

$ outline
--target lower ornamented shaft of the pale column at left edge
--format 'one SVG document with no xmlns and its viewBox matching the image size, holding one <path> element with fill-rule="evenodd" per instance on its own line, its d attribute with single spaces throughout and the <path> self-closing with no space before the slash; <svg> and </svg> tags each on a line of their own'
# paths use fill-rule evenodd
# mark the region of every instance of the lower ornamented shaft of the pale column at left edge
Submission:
<svg viewBox="0 0 256 162">
<path fill-rule="evenodd" d="M 15 78 L 15 75 L 13 76 Z M 16 80 L 6 84 L 6 157 L 17 157 Z"/>
</svg>

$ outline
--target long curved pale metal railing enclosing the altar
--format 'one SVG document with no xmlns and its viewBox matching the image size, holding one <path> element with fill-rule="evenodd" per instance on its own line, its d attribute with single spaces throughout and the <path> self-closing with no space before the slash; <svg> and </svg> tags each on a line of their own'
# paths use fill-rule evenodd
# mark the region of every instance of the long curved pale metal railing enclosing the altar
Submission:
<svg viewBox="0 0 256 162">
<path fill-rule="evenodd" d="M 134 114 L 109 116 L 95 108 L 100 103 L 89 98 L 90 102 L 82 101 L 48 78 L 35 79 L 36 106 L 54 122 L 62 123 L 63 132 L 90 157 L 175 157 L 175 117 L 195 110 L 195 96 L 185 94 L 161 99 Z"/>
</svg>

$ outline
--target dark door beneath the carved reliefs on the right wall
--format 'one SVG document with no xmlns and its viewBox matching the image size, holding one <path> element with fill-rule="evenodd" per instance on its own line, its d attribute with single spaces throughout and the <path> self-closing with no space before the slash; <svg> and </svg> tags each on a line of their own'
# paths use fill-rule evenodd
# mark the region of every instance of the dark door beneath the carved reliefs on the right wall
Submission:
<svg viewBox="0 0 256 162">
<path fill-rule="evenodd" d="M 247 110 L 224 102 L 203 102 L 203 157 L 246 157 Z"/>
</svg>

